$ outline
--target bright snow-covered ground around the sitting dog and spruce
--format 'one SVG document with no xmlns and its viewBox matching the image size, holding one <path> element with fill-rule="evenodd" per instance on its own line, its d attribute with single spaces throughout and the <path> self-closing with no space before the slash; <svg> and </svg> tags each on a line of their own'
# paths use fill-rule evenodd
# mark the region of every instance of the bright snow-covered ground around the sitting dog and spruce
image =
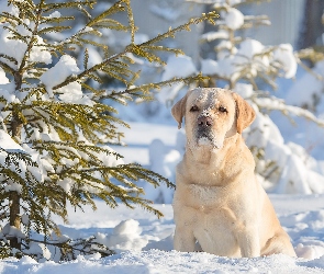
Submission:
<svg viewBox="0 0 324 274">
<path fill-rule="evenodd" d="M 148 148 L 160 138 L 165 148 L 176 146 L 177 127 L 132 123 L 126 132 L 127 147 L 118 150 L 129 158 L 149 164 Z M 37 263 L 31 258 L 0 261 L 0 273 L 324 273 L 324 195 L 270 195 L 284 229 L 291 237 L 298 259 L 271 255 L 255 259 L 228 259 L 195 252 L 172 250 L 174 219 L 170 204 L 157 204 L 165 217 L 157 219 L 142 208 L 130 210 L 124 206 L 108 208 L 98 202 L 98 210 L 85 213 L 69 209 L 69 224 L 59 219 L 64 235 L 71 238 L 96 235 L 102 243 L 116 251 L 101 259 L 78 256 L 71 262 Z"/>
</svg>

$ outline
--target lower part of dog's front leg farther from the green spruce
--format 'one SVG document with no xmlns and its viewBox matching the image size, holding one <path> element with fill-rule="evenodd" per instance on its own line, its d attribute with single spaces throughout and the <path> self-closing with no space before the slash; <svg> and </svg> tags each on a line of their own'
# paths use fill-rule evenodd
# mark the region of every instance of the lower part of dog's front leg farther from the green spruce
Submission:
<svg viewBox="0 0 324 274">
<path fill-rule="evenodd" d="M 244 229 L 238 232 L 238 244 L 242 256 L 254 258 L 260 256 L 260 242 L 257 229 Z"/>
</svg>

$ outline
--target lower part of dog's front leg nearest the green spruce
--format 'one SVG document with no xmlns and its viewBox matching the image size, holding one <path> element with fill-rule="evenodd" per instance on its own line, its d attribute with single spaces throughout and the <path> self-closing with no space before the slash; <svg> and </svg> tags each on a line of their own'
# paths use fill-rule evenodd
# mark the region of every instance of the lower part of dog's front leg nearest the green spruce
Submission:
<svg viewBox="0 0 324 274">
<path fill-rule="evenodd" d="M 181 252 L 193 252 L 195 239 L 192 230 L 188 226 L 176 226 L 174 248 Z"/>
</svg>

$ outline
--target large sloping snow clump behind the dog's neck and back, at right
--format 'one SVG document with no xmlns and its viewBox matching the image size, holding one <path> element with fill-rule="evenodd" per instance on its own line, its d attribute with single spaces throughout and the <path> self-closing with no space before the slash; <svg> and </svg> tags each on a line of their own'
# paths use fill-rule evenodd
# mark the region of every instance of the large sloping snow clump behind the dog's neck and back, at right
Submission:
<svg viewBox="0 0 324 274">
<path fill-rule="evenodd" d="M 284 144 L 276 124 L 257 111 L 257 116 L 245 133 L 249 147 L 264 148 L 256 170 L 271 182 L 269 191 L 275 193 L 311 194 L 324 193 L 324 173 L 319 172 L 304 148 L 297 144 Z M 272 168 L 271 162 L 275 163 Z"/>
</svg>

